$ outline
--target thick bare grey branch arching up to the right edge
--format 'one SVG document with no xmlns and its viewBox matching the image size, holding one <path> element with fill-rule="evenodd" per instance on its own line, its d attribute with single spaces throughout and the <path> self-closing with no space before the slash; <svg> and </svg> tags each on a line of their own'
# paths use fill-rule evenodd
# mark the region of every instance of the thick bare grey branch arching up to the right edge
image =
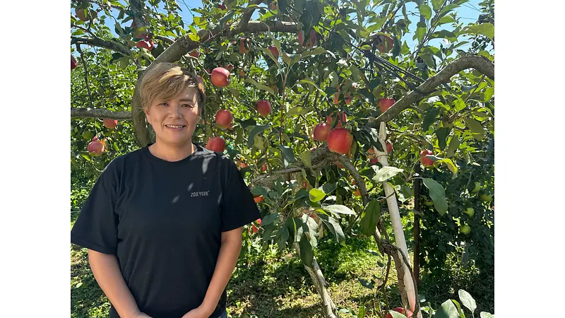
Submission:
<svg viewBox="0 0 565 318">
<path fill-rule="evenodd" d="M 400 112 L 410 107 L 410 105 L 420 102 L 420 100 L 429 95 L 435 88 L 441 84 L 447 83 L 453 75 L 465 69 L 476 69 L 494 80 L 494 64 L 492 61 L 489 61 L 486 57 L 475 54 L 460 57 L 450 64 L 447 64 L 446 67 L 439 71 L 439 73 L 436 73 L 436 75 L 428 78 L 422 85 L 417 87 L 417 90 L 412 90 L 408 95 L 400 98 L 400 100 L 394 103 L 391 108 L 383 112 L 379 117 L 372 119 L 369 122 L 369 126 L 379 129 L 381 122 L 390 122 L 394 117 L 398 116 Z"/>
</svg>

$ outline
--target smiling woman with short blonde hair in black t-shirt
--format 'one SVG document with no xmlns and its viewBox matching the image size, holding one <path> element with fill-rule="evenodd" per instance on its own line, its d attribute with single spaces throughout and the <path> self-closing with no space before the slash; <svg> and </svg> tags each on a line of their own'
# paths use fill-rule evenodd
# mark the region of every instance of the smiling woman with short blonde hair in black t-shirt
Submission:
<svg viewBox="0 0 565 318">
<path fill-rule="evenodd" d="M 201 81 L 160 63 L 140 89 L 155 143 L 107 165 L 71 242 L 88 249 L 111 318 L 227 317 L 242 227 L 260 218 L 258 208 L 230 158 L 192 143 Z"/>
</svg>

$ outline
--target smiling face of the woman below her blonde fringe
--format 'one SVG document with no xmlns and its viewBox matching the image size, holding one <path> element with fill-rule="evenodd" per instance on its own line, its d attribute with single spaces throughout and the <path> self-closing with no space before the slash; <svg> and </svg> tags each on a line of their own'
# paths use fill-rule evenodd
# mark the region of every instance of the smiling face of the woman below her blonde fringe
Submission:
<svg viewBox="0 0 565 318">
<path fill-rule="evenodd" d="M 196 88 L 184 90 L 171 100 L 153 100 L 145 116 L 153 126 L 157 142 L 170 146 L 183 146 L 192 142 L 198 116 Z"/>
</svg>

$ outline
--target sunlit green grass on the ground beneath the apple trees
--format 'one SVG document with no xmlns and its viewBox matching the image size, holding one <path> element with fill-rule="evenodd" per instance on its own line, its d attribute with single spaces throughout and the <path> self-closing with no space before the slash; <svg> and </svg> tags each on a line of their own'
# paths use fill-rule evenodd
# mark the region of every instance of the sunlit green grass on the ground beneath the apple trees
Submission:
<svg viewBox="0 0 565 318">
<path fill-rule="evenodd" d="M 71 226 L 76 214 L 71 215 Z M 376 251 L 372 238 L 347 237 L 345 245 L 338 245 L 331 237 L 324 238 L 316 247 L 318 259 L 335 305 L 341 310 L 340 317 L 356 317 L 360 305 L 373 310 L 367 318 L 379 317 L 376 311 L 384 310 L 386 302 L 392 307 L 400 305 L 396 288 L 394 265 L 383 293 L 365 288 L 358 278 L 376 285 L 385 276 L 386 257 L 367 251 Z M 477 300 L 479 310 L 494 313 L 494 273 L 478 273 L 476 269 L 458 267 L 456 260 L 446 264 L 444 276 L 422 275 L 420 294 L 426 298 L 422 305 L 432 303 L 437 309 L 441 302 L 458 300 L 457 290 L 463 288 Z M 468 287 L 471 286 L 471 287 Z M 475 295 L 478 293 L 479 295 Z M 299 257 L 292 251 L 258 249 L 240 257 L 228 285 L 227 310 L 230 317 L 323 317 L 320 297 L 314 288 Z M 86 249 L 71 246 L 71 317 L 108 317 L 109 302 L 98 287 L 88 265 Z M 427 316 L 427 314 L 425 315 Z"/>
</svg>

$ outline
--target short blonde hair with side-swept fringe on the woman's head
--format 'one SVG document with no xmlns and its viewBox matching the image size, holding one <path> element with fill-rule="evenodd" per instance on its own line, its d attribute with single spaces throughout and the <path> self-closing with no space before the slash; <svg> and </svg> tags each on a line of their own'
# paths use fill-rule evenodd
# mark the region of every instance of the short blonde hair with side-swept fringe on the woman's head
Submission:
<svg viewBox="0 0 565 318">
<path fill-rule="evenodd" d="M 201 114 L 206 102 L 204 84 L 186 67 L 179 64 L 161 62 L 152 65 L 143 75 L 140 85 L 141 109 L 148 110 L 155 99 L 169 100 L 183 90 L 196 88 L 198 94 L 198 114 Z"/>
</svg>

